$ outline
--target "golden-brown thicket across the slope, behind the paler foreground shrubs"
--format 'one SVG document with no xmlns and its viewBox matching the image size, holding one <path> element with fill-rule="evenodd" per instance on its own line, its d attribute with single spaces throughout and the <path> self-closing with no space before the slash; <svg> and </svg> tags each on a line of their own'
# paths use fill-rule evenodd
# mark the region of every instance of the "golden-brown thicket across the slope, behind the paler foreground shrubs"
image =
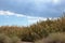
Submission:
<svg viewBox="0 0 65 43">
<path fill-rule="evenodd" d="M 56 20 L 46 20 L 34 24 L 29 27 L 17 26 L 2 26 L 0 27 L 0 33 L 4 33 L 9 38 L 20 38 L 21 41 L 34 42 L 42 38 L 47 38 L 53 32 L 65 32 L 65 17 Z M 3 37 L 2 37 L 3 38 Z M 54 37 L 53 37 L 54 38 Z"/>
</svg>

